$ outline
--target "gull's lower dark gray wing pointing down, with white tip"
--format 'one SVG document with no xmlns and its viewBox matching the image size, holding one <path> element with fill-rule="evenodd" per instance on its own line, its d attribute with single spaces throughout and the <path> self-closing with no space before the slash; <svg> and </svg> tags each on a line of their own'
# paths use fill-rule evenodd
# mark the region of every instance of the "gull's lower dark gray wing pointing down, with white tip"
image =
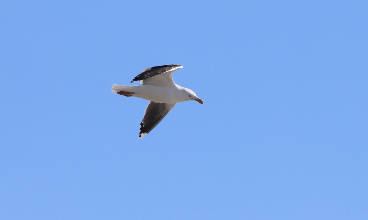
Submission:
<svg viewBox="0 0 368 220">
<path fill-rule="evenodd" d="M 143 138 L 160 123 L 160 121 L 173 109 L 174 104 L 149 102 L 141 122 L 139 138 Z"/>
</svg>

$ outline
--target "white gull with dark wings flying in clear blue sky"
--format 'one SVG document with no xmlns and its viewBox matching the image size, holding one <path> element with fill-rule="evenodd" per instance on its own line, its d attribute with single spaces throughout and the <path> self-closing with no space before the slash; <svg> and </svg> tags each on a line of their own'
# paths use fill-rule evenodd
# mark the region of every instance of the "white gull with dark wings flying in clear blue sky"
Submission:
<svg viewBox="0 0 368 220">
<path fill-rule="evenodd" d="M 202 99 L 199 99 L 193 91 L 174 83 L 173 72 L 180 68 L 183 66 L 177 64 L 148 67 L 131 81 L 131 83 L 140 81 L 140 85 L 112 86 L 113 93 L 150 101 L 141 122 L 139 138 L 143 138 L 152 131 L 176 103 L 195 100 L 203 104 Z"/>
</svg>

